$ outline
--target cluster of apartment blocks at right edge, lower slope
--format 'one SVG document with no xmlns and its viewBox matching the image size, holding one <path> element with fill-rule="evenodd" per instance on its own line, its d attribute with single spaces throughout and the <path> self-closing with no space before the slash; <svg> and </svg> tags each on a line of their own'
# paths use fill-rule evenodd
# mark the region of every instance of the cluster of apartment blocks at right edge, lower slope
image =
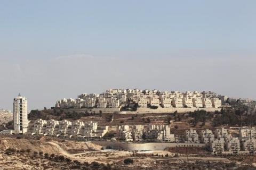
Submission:
<svg viewBox="0 0 256 170">
<path fill-rule="evenodd" d="M 200 138 L 200 140 L 199 140 Z M 212 154 L 253 154 L 256 152 L 256 130 L 243 127 L 239 129 L 239 138 L 233 138 L 227 129 L 202 130 L 199 135 L 196 130 L 185 132 L 185 142 L 204 142 L 210 147 Z"/>
</svg>

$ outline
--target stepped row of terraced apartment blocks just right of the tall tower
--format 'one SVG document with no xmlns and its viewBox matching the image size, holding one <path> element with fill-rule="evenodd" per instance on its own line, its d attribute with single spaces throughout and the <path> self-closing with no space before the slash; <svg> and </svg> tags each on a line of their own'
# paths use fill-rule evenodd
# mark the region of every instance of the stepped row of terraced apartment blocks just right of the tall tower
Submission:
<svg viewBox="0 0 256 170">
<path fill-rule="evenodd" d="M 96 122 L 39 119 L 34 123 L 32 134 L 91 139 L 102 138 L 107 131 L 108 126 L 99 126 Z"/>
</svg>

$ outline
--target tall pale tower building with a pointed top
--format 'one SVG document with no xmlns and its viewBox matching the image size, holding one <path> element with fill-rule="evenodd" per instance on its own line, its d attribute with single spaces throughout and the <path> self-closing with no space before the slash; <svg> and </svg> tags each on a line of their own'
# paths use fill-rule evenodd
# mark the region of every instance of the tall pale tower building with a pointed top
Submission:
<svg viewBox="0 0 256 170">
<path fill-rule="evenodd" d="M 25 97 L 18 97 L 13 99 L 13 122 L 14 133 L 26 133 L 28 128 L 28 102 Z"/>
</svg>

